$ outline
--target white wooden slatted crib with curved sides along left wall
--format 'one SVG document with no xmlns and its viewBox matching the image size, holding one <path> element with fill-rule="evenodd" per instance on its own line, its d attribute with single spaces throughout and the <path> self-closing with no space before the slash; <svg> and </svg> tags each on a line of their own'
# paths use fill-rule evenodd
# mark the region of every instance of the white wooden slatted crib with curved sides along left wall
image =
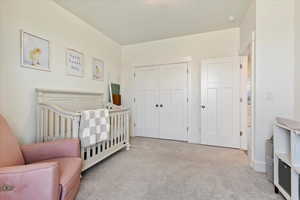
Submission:
<svg viewBox="0 0 300 200">
<path fill-rule="evenodd" d="M 37 141 L 79 138 L 80 113 L 103 108 L 103 94 L 94 92 L 37 89 Z M 129 110 L 110 111 L 108 141 L 81 148 L 83 171 L 126 147 L 129 143 Z"/>
</svg>

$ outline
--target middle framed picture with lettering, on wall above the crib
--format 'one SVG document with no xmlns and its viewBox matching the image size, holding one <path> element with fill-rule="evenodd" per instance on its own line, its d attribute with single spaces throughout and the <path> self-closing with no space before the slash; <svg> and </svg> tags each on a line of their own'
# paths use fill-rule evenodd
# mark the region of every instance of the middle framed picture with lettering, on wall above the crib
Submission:
<svg viewBox="0 0 300 200">
<path fill-rule="evenodd" d="M 74 49 L 66 49 L 67 74 L 70 76 L 84 77 L 84 55 Z"/>
</svg>

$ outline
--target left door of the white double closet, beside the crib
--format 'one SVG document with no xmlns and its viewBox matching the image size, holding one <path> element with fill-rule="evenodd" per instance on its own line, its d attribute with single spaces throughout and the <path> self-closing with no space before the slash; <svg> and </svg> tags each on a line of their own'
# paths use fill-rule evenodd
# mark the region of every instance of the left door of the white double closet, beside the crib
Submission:
<svg viewBox="0 0 300 200">
<path fill-rule="evenodd" d="M 135 135 L 159 138 L 159 67 L 135 71 Z"/>
</svg>

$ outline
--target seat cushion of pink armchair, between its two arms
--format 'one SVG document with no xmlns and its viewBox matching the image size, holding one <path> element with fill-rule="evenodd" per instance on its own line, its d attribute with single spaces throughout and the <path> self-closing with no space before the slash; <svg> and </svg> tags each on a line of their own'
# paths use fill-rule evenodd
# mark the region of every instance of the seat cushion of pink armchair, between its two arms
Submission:
<svg viewBox="0 0 300 200">
<path fill-rule="evenodd" d="M 61 199 L 67 200 L 72 199 L 76 196 L 79 183 L 80 183 L 80 173 L 82 169 L 81 158 L 57 158 L 51 160 L 45 160 L 44 162 L 56 162 L 59 166 L 60 173 L 60 189 L 61 189 Z"/>
</svg>

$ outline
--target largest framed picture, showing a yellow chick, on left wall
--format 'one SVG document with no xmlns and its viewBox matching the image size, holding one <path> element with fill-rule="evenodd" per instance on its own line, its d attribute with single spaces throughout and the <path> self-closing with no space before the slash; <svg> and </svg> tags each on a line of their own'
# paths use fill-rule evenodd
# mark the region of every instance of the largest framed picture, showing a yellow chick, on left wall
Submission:
<svg viewBox="0 0 300 200">
<path fill-rule="evenodd" d="M 21 66 L 25 68 L 51 71 L 50 41 L 21 30 Z"/>
</svg>

